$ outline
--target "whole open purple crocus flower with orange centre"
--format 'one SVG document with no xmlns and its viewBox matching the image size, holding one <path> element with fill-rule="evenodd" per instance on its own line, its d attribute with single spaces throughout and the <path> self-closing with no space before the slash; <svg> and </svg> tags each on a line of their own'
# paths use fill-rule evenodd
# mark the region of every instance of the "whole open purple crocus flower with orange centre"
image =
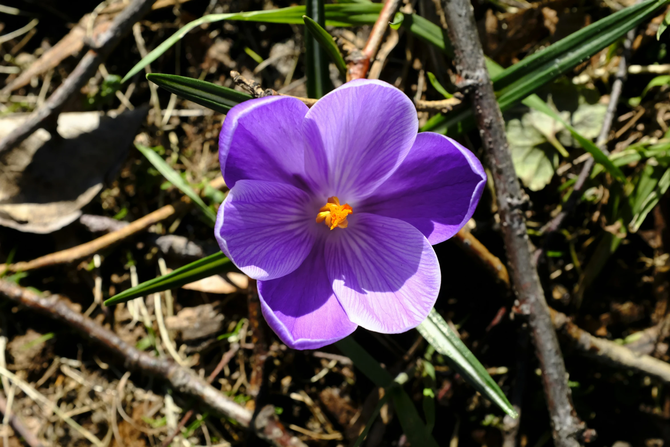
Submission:
<svg viewBox="0 0 670 447">
<path fill-rule="evenodd" d="M 291 348 L 358 325 L 404 332 L 435 304 L 431 245 L 472 216 L 486 174 L 468 149 L 417 127 L 412 102 L 379 80 L 347 82 L 312 109 L 273 96 L 228 112 L 216 239 L 259 280 L 265 320 Z"/>
</svg>

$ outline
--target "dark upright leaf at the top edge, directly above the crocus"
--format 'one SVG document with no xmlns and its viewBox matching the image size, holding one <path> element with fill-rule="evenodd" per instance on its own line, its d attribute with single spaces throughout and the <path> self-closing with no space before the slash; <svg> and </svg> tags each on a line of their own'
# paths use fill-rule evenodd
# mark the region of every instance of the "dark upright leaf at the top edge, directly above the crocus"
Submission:
<svg viewBox="0 0 670 447">
<path fill-rule="evenodd" d="M 326 26 L 324 1 L 306 0 L 303 17 L 305 16 L 310 17 L 323 29 Z M 307 23 L 305 24 L 305 75 L 307 76 L 306 86 L 309 98 L 319 99 L 332 90 L 326 51 L 319 44 L 318 38 L 310 31 L 310 26 Z"/>
</svg>

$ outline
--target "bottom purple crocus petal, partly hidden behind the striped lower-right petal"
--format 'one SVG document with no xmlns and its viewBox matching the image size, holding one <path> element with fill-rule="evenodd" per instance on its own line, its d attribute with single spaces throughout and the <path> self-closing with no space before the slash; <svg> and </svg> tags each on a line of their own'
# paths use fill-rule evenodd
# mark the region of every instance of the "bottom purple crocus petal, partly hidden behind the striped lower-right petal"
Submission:
<svg viewBox="0 0 670 447">
<path fill-rule="evenodd" d="M 320 348 L 341 340 L 357 327 L 330 287 L 323 243 L 316 243 L 295 271 L 259 281 L 258 292 L 267 324 L 291 348 Z"/>
</svg>

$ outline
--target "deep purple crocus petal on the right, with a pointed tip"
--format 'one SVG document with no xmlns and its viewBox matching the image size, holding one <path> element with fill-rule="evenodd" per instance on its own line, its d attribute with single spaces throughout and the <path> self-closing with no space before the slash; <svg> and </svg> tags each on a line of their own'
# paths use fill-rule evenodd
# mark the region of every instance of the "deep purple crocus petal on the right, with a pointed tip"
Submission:
<svg viewBox="0 0 670 447">
<path fill-rule="evenodd" d="M 393 176 L 358 209 L 405 220 L 435 245 L 468 222 L 485 185 L 486 173 L 472 152 L 423 132 Z"/>
</svg>

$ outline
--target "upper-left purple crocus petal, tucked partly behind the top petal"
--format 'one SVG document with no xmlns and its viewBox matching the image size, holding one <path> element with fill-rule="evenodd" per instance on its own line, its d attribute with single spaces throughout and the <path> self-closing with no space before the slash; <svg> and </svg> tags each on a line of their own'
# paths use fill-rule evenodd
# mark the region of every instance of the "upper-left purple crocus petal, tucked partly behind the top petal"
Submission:
<svg viewBox="0 0 670 447">
<path fill-rule="evenodd" d="M 238 180 L 301 184 L 302 120 L 309 109 L 293 97 L 250 99 L 228 112 L 218 139 L 218 161 L 228 188 Z"/>
</svg>

